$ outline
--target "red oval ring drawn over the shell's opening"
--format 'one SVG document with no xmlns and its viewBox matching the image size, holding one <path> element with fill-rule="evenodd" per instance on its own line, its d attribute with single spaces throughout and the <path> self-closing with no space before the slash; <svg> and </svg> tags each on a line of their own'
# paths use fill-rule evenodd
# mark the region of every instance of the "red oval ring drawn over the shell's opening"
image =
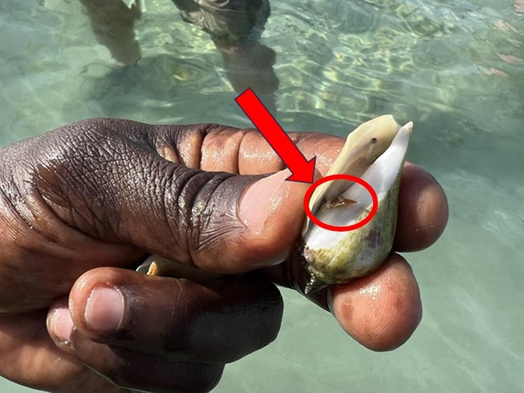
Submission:
<svg viewBox="0 0 524 393">
<path fill-rule="evenodd" d="M 311 199 L 311 195 L 313 195 L 313 191 L 316 189 L 316 187 L 320 186 L 321 184 L 324 184 L 326 182 L 331 182 L 333 180 L 348 180 L 348 181 L 351 181 L 351 182 L 358 183 L 361 186 L 363 186 L 367 190 L 367 192 L 369 194 L 371 194 L 371 198 L 373 200 L 373 206 L 372 206 L 371 211 L 369 212 L 369 214 L 366 216 L 366 218 L 364 218 L 362 221 L 356 222 L 356 223 L 354 223 L 352 225 L 348 225 L 348 226 L 345 226 L 345 227 L 339 227 L 339 226 L 336 226 L 336 225 L 326 224 L 325 222 L 320 221 L 318 218 L 316 218 L 314 216 L 314 214 L 311 212 L 311 209 L 309 208 L 309 200 Z M 371 221 L 373 216 L 375 216 L 375 214 L 377 213 L 377 209 L 378 209 L 378 197 L 377 197 L 377 193 L 375 192 L 373 187 L 368 182 L 366 182 L 364 179 L 362 179 L 360 177 L 357 177 L 357 176 L 353 176 L 353 175 L 336 174 L 336 175 L 330 175 L 330 176 L 322 177 L 321 179 L 319 179 L 316 182 L 314 182 L 308 188 L 307 192 L 304 195 L 304 211 L 305 211 L 305 214 L 307 214 L 309 219 L 311 221 L 313 221 L 316 225 L 318 225 L 319 227 L 322 227 L 324 229 L 329 229 L 330 231 L 346 232 L 346 231 L 353 231 L 355 229 L 361 228 L 361 227 L 365 226 L 365 224 L 367 224 L 369 221 Z"/>
</svg>

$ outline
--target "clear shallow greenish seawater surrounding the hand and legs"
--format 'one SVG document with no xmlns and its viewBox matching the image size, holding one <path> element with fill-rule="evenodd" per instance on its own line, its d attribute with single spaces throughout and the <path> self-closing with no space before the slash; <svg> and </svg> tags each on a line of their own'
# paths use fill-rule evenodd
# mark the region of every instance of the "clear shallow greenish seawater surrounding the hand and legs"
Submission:
<svg viewBox="0 0 524 393">
<path fill-rule="evenodd" d="M 449 3 L 273 1 L 253 70 L 225 62 L 168 0 L 146 0 L 132 66 L 97 42 L 79 2 L 3 0 L 0 145 L 96 116 L 247 126 L 233 86 L 251 74 L 288 131 L 413 120 L 408 158 L 440 181 L 450 220 L 405 255 L 424 307 L 412 338 L 370 352 L 283 290 L 276 342 L 227 366 L 215 391 L 524 391 L 524 3 Z"/>
</svg>

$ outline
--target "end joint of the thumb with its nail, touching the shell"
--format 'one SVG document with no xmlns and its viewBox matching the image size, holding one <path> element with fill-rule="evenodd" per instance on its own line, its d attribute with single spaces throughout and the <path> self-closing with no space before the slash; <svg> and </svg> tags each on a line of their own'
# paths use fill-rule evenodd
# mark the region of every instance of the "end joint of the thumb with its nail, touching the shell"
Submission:
<svg viewBox="0 0 524 393">
<path fill-rule="evenodd" d="M 286 181 L 290 174 L 235 175 L 217 187 L 189 228 L 192 263 L 240 273 L 285 260 L 302 228 L 308 189 L 308 184 Z"/>
</svg>

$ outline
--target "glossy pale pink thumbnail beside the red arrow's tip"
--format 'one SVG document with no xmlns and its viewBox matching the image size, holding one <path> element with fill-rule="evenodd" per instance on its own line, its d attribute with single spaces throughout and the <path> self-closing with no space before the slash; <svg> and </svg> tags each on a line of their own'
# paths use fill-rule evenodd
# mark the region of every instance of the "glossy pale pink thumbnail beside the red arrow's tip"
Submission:
<svg viewBox="0 0 524 393">
<path fill-rule="evenodd" d="M 246 227 L 257 230 L 264 226 L 268 211 L 289 176 L 291 172 L 285 169 L 256 181 L 244 190 L 238 214 Z"/>
</svg>

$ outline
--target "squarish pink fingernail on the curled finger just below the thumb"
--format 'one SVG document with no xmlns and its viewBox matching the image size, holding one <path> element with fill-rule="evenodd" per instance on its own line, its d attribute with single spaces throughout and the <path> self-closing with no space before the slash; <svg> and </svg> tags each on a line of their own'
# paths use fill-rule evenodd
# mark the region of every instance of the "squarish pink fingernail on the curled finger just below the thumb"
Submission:
<svg viewBox="0 0 524 393">
<path fill-rule="evenodd" d="M 111 333 L 124 319 L 124 298 L 114 288 L 96 287 L 85 306 L 85 325 L 95 332 Z"/>
</svg>

